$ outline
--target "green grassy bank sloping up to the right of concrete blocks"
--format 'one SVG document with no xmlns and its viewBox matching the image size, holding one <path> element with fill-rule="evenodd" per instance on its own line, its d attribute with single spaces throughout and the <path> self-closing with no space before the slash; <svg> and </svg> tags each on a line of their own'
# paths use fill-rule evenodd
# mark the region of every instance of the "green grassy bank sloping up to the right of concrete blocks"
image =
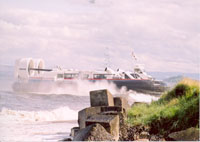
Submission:
<svg viewBox="0 0 200 142">
<path fill-rule="evenodd" d="M 199 128 L 199 95 L 200 83 L 183 79 L 158 101 L 134 105 L 128 112 L 128 123 L 149 126 L 150 133 L 161 135 Z"/>
</svg>

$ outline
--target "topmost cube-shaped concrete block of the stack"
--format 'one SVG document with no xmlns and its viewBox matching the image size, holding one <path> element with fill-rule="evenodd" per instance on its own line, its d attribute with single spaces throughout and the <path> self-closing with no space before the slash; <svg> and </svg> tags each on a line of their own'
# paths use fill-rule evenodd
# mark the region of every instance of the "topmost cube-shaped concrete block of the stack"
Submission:
<svg viewBox="0 0 200 142">
<path fill-rule="evenodd" d="M 114 106 L 112 94 L 108 90 L 90 91 L 91 107 L 95 106 Z"/>
</svg>

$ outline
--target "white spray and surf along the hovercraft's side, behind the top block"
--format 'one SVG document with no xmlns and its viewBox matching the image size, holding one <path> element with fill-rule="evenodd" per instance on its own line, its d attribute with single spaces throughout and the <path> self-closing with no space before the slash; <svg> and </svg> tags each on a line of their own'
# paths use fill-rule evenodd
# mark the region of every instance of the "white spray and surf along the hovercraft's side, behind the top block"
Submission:
<svg viewBox="0 0 200 142">
<path fill-rule="evenodd" d="M 49 87 L 47 89 L 48 85 Z M 108 82 L 106 80 L 101 80 L 97 82 L 90 82 L 88 80 L 73 80 L 72 82 L 67 83 L 40 83 L 38 90 L 43 90 L 43 92 L 34 93 L 43 95 L 70 94 L 75 96 L 89 96 L 90 91 L 101 89 L 108 89 L 114 96 L 125 97 L 127 100 L 129 100 L 130 104 L 134 102 L 150 103 L 151 101 L 159 99 L 159 97 L 149 94 L 138 93 L 134 90 L 127 90 L 125 86 L 117 88 L 114 83 Z"/>
</svg>

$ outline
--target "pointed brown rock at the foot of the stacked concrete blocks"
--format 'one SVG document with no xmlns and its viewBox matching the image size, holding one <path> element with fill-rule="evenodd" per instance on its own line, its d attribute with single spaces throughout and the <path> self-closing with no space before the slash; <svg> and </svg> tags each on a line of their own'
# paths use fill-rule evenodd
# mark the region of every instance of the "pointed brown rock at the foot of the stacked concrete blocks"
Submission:
<svg viewBox="0 0 200 142">
<path fill-rule="evenodd" d="M 103 126 L 96 123 L 81 129 L 74 137 L 73 141 L 113 141 L 113 136 L 109 134 Z"/>
</svg>

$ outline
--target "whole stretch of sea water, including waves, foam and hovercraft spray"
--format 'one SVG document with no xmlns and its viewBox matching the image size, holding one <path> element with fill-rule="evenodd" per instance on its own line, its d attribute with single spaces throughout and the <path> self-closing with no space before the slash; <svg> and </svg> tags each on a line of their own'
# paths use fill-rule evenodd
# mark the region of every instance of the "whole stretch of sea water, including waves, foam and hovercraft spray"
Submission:
<svg viewBox="0 0 200 142">
<path fill-rule="evenodd" d="M 79 87 L 54 86 L 51 91 L 14 92 L 13 68 L 0 68 L 0 141 L 59 141 L 78 126 L 78 111 L 90 106 L 89 91 L 109 89 L 129 103 L 151 102 L 158 97 L 117 89 L 107 82 L 79 82 Z M 53 91 L 52 91 L 53 90 Z"/>
</svg>

